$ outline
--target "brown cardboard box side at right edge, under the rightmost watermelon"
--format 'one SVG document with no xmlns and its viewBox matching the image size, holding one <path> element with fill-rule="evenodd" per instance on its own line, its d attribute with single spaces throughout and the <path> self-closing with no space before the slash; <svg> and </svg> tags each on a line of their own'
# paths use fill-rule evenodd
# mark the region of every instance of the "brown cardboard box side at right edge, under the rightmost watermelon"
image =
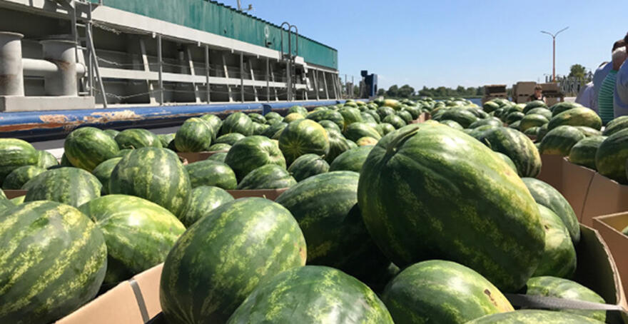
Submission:
<svg viewBox="0 0 628 324">
<path fill-rule="evenodd" d="M 593 218 L 628 211 L 628 186 L 595 173 L 582 208 L 580 223 L 592 226 Z"/>
</svg>

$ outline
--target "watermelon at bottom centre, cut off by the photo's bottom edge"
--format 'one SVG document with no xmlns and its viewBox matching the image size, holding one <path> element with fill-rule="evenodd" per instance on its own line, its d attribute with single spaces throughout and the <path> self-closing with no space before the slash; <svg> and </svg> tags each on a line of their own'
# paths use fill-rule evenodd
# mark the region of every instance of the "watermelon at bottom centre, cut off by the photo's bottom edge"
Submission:
<svg viewBox="0 0 628 324">
<path fill-rule="evenodd" d="M 393 319 L 364 283 L 334 268 L 306 265 L 260 283 L 227 323 L 393 324 Z"/>
</svg>

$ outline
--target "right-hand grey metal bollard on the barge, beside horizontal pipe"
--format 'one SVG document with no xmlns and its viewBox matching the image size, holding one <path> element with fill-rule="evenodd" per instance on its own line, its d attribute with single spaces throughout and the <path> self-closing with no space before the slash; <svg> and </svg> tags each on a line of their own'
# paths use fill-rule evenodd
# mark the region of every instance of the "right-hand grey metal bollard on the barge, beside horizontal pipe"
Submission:
<svg viewBox="0 0 628 324">
<path fill-rule="evenodd" d="M 78 96 L 76 87 L 76 43 L 41 41 L 44 59 L 59 67 L 59 73 L 44 76 L 44 90 L 49 96 Z"/>
</svg>

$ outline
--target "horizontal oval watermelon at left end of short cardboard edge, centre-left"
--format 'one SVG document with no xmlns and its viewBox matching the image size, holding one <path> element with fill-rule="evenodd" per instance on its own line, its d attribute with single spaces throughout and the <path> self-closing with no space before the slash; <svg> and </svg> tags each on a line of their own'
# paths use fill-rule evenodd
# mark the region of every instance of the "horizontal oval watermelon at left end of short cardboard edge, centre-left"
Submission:
<svg viewBox="0 0 628 324">
<path fill-rule="evenodd" d="M 216 186 L 226 190 L 235 189 L 238 185 L 236 173 L 226 164 L 219 161 L 205 160 L 185 166 L 190 176 L 192 188 L 199 186 Z"/>
</svg>

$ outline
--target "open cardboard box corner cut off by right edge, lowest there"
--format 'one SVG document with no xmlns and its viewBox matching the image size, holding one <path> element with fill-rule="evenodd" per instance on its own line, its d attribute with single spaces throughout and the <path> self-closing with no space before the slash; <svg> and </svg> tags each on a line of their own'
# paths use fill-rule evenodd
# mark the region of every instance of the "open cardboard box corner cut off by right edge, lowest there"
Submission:
<svg viewBox="0 0 628 324">
<path fill-rule="evenodd" d="M 628 236 L 622 230 L 628 226 L 628 212 L 593 218 L 595 228 L 608 245 L 617 265 L 624 291 L 628 290 Z"/>
</svg>

